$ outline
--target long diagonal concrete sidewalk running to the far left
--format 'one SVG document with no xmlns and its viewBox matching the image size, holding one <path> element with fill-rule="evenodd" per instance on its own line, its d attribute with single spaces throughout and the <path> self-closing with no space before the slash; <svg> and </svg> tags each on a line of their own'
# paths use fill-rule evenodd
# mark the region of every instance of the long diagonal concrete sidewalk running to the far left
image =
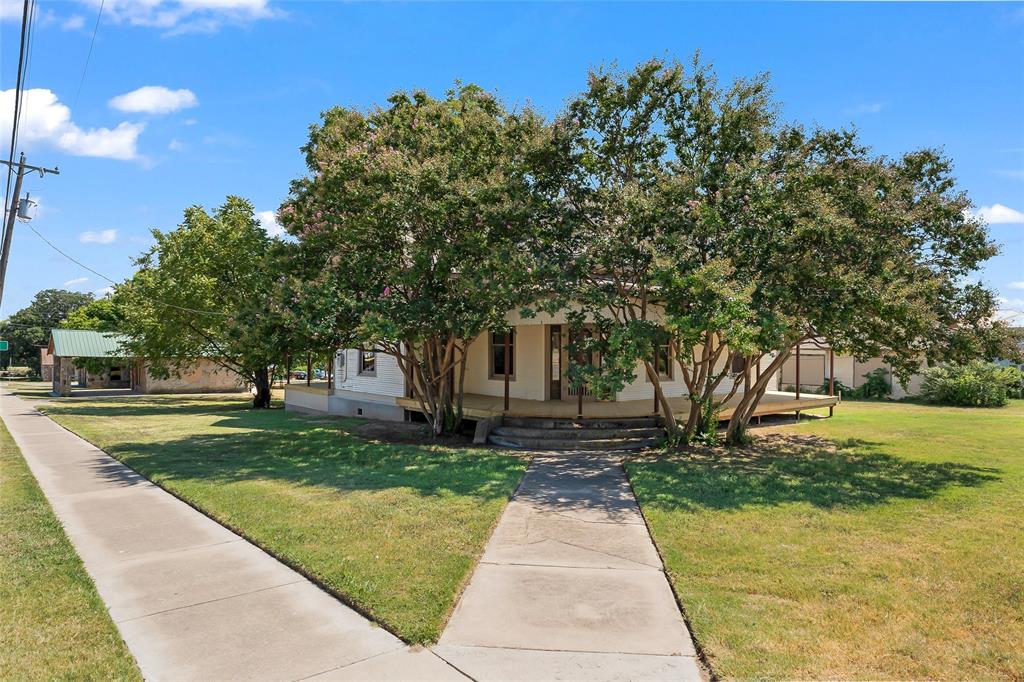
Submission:
<svg viewBox="0 0 1024 682">
<path fill-rule="evenodd" d="M 0 415 L 146 679 L 465 679 L 28 402 Z"/>
</svg>

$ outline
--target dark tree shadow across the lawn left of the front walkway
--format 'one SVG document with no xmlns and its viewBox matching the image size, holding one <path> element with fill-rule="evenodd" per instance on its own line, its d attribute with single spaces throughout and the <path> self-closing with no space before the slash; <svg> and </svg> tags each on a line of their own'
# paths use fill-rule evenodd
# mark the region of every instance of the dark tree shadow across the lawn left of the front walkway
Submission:
<svg viewBox="0 0 1024 682">
<path fill-rule="evenodd" d="M 150 404 L 151 400 L 156 404 Z M 507 498 L 525 468 L 519 458 L 486 450 L 366 440 L 346 430 L 357 420 L 316 419 L 224 401 L 172 400 L 62 403 L 46 411 L 58 419 L 219 416 L 212 424 L 213 432 L 205 427 L 207 432 L 183 437 L 97 443 L 161 483 L 281 480 L 338 492 L 406 487 L 423 496 L 468 496 L 483 501 Z M 178 423 L 176 428 L 180 427 Z"/>
</svg>

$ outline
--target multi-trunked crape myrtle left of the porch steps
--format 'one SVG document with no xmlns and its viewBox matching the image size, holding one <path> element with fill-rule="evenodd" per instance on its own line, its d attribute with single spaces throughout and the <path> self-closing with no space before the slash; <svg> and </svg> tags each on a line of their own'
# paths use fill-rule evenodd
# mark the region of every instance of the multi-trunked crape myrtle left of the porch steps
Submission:
<svg viewBox="0 0 1024 682">
<path fill-rule="evenodd" d="M 280 211 L 318 269 L 298 300 L 326 336 L 393 356 L 434 433 L 458 428 L 469 344 L 536 296 L 548 135 L 529 109 L 461 84 L 311 127 L 309 175 Z"/>
</svg>

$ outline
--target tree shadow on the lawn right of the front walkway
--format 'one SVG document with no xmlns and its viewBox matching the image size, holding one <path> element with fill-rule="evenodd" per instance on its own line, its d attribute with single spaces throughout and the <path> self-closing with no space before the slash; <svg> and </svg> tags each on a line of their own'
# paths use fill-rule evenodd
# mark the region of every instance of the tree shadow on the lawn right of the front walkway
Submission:
<svg viewBox="0 0 1024 682">
<path fill-rule="evenodd" d="M 880 444 L 857 438 L 767 437 L 740 450 L 702 449 L 637 460 L 629 469 L 643 504 L 666 511 L 792 502 L 821 508 L 879 505 L 999 478 L 998 469 L 907 460 L 877 452 Z"/>
</svg>

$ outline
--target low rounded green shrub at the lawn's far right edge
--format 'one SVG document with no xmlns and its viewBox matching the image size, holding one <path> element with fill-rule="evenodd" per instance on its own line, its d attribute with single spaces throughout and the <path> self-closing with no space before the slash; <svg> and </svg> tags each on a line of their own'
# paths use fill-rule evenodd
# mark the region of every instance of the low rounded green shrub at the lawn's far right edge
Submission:
<svg viewBox="0 0 1024 682">
<path fill-rule="evenodd" d="M 1021 372 L 1013 367 L 974 360 L 941 365 L 925 371 L 921 397 L 928 402 L 975 408 L 999 408 L 1021 391 Z"/>
</svg>

